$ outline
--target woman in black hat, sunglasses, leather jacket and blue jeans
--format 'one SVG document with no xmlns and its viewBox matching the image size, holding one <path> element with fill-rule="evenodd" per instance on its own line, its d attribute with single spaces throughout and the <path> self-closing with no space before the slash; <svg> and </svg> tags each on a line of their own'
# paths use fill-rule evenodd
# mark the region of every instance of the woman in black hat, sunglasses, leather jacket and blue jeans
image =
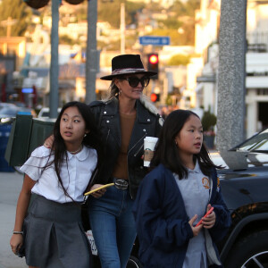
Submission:
<svg viewBox="0 0 268 268">
<path fill-rule="evenodd" d="M 143 166 L 144 138 L 157 137 L 163 120 L 147 102 L 143 89 L 153 71 L 146 71 L 138 54 L 122 54 L 112 60 L 111 92 L 105 101 L 89 105 L 103 134 L 105 162 L 92 181 L 114 186 L 88 198 L 89 220 L 103 268 L 124 268 L 136 238 L 131 212 Z"/>
</svg>

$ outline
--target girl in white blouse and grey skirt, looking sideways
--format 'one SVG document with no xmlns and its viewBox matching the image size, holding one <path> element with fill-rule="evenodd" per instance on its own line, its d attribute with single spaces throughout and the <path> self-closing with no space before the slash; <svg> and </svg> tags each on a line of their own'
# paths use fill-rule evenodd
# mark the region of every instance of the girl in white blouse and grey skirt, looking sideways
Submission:
<svg viewBox="0 0 268 268">
<path fill-rule="evenodd" d="M 102 157 L 99 138 L 88 106 L 68 103 L 54 124 L 53 150 L 38 147 L 21 166 L 25 178 L 10 244 L 16 254 L 24 243 L 29 267 L 90 267 L 80 204 Z"/>
</svg>

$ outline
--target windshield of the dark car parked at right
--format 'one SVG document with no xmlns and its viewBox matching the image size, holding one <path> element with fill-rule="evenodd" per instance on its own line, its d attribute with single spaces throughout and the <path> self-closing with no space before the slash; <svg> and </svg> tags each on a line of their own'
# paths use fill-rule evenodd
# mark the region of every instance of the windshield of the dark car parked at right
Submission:
<svg viewBox="0 0 268 268">
<path fill-rule="evenodd" d="M 238 151 L 267 152 L 268 153 L 268 129 L 264 130 L 252 138 L 247 139 L 237 147 Z"/>
</svg>

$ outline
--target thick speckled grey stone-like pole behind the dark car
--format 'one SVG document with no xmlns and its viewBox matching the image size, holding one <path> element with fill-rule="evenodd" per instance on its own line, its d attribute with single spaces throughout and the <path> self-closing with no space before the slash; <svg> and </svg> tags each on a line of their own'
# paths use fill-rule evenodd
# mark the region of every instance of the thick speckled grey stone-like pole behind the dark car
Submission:
<svg viewBox="0 0 268 268">
<path fill-rule="evenodd" d="M 247 0 L 222 1 L 217 146 L 227 151 L 245 136 Z"/>
</svg>

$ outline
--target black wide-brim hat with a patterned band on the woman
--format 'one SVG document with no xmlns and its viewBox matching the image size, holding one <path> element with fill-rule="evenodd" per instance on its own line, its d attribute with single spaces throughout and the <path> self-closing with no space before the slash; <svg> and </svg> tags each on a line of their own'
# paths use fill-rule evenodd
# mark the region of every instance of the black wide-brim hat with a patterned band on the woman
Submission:
<svg viewBox="0 0 268 268">
<path fill-rule="evenodd" d="M 145 70 L 139 54 L 121 54 L 112 59 L 112 73 L 100 79 L 113 80 L 114 77 L 132 73 L 144 73 L 148 77 L 157 74 L 155 71 Z"/>
</svg>

